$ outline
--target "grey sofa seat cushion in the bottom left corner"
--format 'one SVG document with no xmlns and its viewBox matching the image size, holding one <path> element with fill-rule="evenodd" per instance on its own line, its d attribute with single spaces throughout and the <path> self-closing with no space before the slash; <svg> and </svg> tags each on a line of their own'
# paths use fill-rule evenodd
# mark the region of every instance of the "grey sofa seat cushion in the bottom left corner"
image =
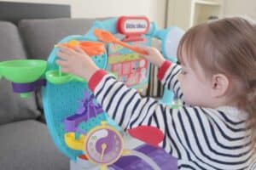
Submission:
<svg viewBox="0 0 256 170">
<path fill-rule="evenodd" d="M 0 127 L 1 169 L 69 169 L 69 160 L 50 139 L 47 127 L 22 121 Z M 9 151 L 12 150 L 12 151 Z"/>
</svg>

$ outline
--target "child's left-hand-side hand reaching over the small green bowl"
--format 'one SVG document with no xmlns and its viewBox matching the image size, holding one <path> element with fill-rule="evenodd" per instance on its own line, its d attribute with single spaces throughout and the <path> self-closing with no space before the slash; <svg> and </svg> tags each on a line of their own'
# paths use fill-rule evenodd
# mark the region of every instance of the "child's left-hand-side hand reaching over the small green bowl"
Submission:
<svg viewBox="0 0 256 170">
<path fill-rule="evenodd" d="M 61 71 L 83 77 L 88 81 L 95 71 L 99 70 L 90 56 L 85 54 L 81 48 L 72 49 L 63 45 L 58 47 L 60 50 L 57 55 L 61 59 L 57 59 L 56 64 L 61 66 Z"/>
</svg>

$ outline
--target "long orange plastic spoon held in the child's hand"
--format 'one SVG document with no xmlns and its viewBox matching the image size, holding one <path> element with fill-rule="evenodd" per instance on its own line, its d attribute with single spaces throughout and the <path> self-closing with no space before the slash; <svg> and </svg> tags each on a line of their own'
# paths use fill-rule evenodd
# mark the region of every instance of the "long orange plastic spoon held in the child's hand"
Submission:
<svg viewBox="0 0 256 170">
<path fill-rule="evenodd" d="M 134 47 L 134 46 L 131 46 L 130 44 L 128 43 L 125 43 L 125 42 L 121 42 L 119 41 L 119 39 L 117 39 L 116 37 L 113 36 L 113 34 L 111 34 L 110 32 L 108 31 L 103 31 L 101 29 L 95 29 L 94 30 L 94 35 L 99 39 L 101 40 L 102 42 L 112 42 L 112 43 L 117 43 L 125 48 L 128 48 L 128 49 L 131 49 L 131 51 L 135 51 L 137 52 L 138 54 L 143 54 L 143 55 L 147 55 L 148 53 L 143 50 L 142 48 L 137 48 L 137 47 Z"/>
</svg>

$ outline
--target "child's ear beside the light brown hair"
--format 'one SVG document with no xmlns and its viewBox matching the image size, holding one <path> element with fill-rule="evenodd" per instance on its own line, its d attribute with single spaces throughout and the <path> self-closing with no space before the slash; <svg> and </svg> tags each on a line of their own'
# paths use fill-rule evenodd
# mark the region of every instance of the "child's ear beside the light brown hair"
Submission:
<svg viewBox="0 0 256 170">
<path fill-rule="evenodd" d="M 224 74 L 215 74 L 212 76 L 211 85 L 212 97 L 223 97 L 228 92 L 230 80 Z"/>
</svg>

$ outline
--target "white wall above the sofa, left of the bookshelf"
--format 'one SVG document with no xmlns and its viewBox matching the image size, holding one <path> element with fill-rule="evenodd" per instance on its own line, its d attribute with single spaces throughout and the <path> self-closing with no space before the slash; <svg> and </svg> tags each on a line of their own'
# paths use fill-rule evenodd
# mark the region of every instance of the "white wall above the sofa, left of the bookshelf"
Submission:
<svg viewBox="0 0 256 170">
<path fill-rule="evenodd" d="M 20 3 L 57 3 L 71 5 L 73 18 L 146 15 L 160 28 L 165 26 L 166 0 L 0 0 Z"/>
</svg>

